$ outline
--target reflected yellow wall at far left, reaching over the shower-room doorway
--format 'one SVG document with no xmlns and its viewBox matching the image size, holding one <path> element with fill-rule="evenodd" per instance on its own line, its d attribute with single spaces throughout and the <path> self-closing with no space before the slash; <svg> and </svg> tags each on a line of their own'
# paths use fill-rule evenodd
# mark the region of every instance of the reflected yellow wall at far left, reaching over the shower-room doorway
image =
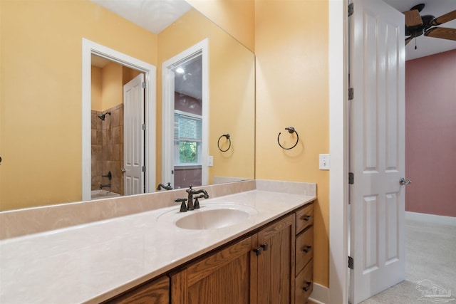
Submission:
<svg viewBox="0 0 456 304">
<path fill-rule="evenodd" d="M 0 14 L 0 210 L 81 200 L 82 38 L 156 65 L 157 36 L 88 0 Z"/>
</svg>

